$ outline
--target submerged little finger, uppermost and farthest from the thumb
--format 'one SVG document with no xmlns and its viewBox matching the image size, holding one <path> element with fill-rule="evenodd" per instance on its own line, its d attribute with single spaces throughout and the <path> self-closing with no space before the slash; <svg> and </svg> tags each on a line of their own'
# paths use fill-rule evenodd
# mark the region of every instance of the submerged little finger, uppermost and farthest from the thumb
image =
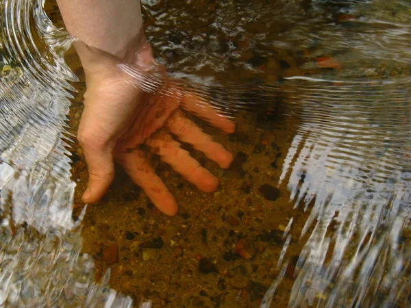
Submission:
<svg viewBox="0 0 411 308">
<path fill-rule="evenodd" d="M 193 112 L 196 116 L 203 118 L 215 127 L 219 127 L 226 133 L 234 133 L 236 129 L 236 125 L 232 120 L 216 112 L 206 100 L 191 92 L 185 91 L 182 93 L 182 105 L 184 109 Z"/>
</svg>

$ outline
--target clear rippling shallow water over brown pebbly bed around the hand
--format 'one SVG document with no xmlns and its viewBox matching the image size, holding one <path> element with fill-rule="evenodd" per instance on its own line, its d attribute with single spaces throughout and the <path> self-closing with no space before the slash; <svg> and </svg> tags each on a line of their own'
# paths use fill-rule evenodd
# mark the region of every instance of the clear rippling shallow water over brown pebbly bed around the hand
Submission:
<svg viewBox="0 0 411 308">
<path fill-rule="evenodd" d="M 409 1 L 142 2 L 159 62 L 236 120 L 200 123 L 234 164 L 193 152 L 203 194 L 158 162 L 175 218 L 121 172 L 80 205 L 81 68 L 41 1 L 3 0 L 0 305 L 408 307 Z"/>
</svg>

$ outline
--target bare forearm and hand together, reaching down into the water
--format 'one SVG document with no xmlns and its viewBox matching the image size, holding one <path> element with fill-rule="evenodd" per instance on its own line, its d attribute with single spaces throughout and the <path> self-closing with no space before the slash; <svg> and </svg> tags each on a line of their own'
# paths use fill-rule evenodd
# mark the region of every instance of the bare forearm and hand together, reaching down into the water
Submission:
<svg viewBox="0 0 411 308">
<path fill-rule="evenodd" d="M 87 86 L 77 134 L 89 173 L 82 200 L 99 201 L 112 183 L 116 161 L 160 211 L 175 215 L 177 202 L 155 175 L 147 155 L 139 149 L 140 144 L 150 146 L 162 161 L 199 190 L 216 190 L 219 185 L 216 177 L 181 149 L 171 133 L 180 141 L 192 144 L 221 168 L 228 168 L 232 154 L 186 118 L 182 110 L 194 113 L 225 133 L 234 131 L 234 123 L 217 114 L 195 94 L 174 89 L 172 82 L 166 81 L 165 86 L 173 90 L 173 96 L 142 92 L 135 86 L 136 80 L 117 66 L 127 63 L 143 71 L 159 69 L 142 34 L 140 1 L 57 2 L 69 33 L 82 41 L 75 42 Z"/>
</svg>

